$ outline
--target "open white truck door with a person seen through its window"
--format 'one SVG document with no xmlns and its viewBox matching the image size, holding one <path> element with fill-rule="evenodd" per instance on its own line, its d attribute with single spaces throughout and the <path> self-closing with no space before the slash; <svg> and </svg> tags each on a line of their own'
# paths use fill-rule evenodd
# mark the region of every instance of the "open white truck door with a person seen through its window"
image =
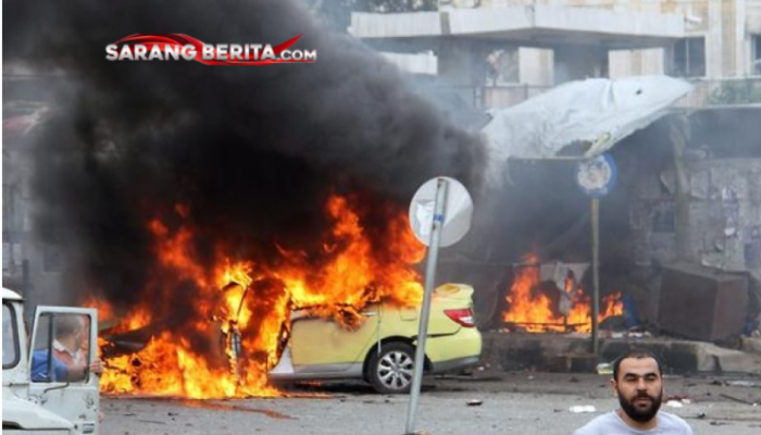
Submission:
<svg viewBox="0 0 761 435">
<path fill-rule="evenodd" d="M 98 433 L 95 309 L 38 307 L 29 348 L 29 398 L 71 421 L 83 434 Z"/>
</svg>

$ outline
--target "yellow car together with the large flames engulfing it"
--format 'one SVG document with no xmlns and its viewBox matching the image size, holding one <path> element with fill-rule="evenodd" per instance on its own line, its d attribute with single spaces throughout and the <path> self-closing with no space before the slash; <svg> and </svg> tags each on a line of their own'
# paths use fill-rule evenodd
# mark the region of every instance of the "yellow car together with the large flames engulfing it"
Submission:
<svg viewBox="0 0 761 435">
<path fill-rule="evenodd" d="M 401 208 L 362 198 L 327 197 L 330 225 L 309 249 L 276 244 L 272 256 L 230 258 L 220 248 L 211 263 L 197 258 L 194 225 L 150 221 L 157 264 L 142 297 L 124 304 L 93 295 L 86 303 L 97 307 L 108 325 L 99 335 L 108 368 L 101 391 L 276 397 L 283 393 L 271 381 L 289 372 L 291 378 L 303 373 L 372 381 L 365 370 L 371 349 L 379 349 L 376 365 L 402 356 L 411 361 L 419 313 L 399 307 L 416 307 L 423 299 L 415 264 L 425 246 Z M 180 206 L 178 219 L 187 213 Z M 429 372 L 477 359 L 481 338 L 472 325 L 472 296 L 473 288 L 464 285 L 436 291 L 426 344 Z M 445 310 L 459 311 L 448 316 Z M 386 356 L 391 344 L 402 349 Z M 386 388 L 404 390 L 408 381 Z"/>
</svg>

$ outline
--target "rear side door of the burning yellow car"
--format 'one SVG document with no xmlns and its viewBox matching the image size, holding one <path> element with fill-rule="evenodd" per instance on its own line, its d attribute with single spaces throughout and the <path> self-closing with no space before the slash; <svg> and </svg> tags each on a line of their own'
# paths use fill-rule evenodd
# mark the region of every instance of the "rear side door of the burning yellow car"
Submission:
<svg viewBox="0 0 761 435">
<path fill-rule="evenodd" d="M 377 335 L 379 306 L 371 304 L 361 312 L 357 330 L 332 319 L 296 315 L 291 320 L 291 357 L 296 372 L 344 372 L 364 361 L 364 349 Z"/>
</svg>

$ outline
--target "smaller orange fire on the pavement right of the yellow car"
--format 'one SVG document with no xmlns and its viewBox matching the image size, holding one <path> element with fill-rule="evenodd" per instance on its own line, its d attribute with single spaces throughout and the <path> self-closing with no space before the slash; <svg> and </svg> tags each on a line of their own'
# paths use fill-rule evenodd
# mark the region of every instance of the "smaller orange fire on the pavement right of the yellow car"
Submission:
<svg viewBox="0 0 761 435">
<path fill-rule="evenodd" d="M 591 297 L 573 279 L 566 279 L 563 289 L 571 300 L 567 315 L 559 310 L 558 297 L 552 298 L 540 287 L 539 263 L 534 254 L 527 256 L 525 266 L 515 269 L 515 276 L 506 299 L 508 309 L 502 315 L 506 323 L 539 332 L 590 332 Z M 621 294 L 603 297 L 598 321 L 623 313 Z"/>
</svg>

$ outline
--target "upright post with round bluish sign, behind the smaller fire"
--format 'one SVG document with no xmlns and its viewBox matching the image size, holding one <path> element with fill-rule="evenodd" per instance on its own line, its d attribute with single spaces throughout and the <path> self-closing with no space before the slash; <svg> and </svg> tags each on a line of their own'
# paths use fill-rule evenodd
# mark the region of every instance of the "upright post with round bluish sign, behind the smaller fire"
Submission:
<svg viewBox="0 0 761 435">
<path fill-rule="evenodd" d="M 591 309 L 591 349 L 600 351 L 600 198 L 615 185 L 619 172 L 615 161 L 608 154 L 585 160 L 578 164 L 576 182 L 585 194 L 591 197 L 591 264 L 592 264 L 592 309 Z"/>
</svg>

